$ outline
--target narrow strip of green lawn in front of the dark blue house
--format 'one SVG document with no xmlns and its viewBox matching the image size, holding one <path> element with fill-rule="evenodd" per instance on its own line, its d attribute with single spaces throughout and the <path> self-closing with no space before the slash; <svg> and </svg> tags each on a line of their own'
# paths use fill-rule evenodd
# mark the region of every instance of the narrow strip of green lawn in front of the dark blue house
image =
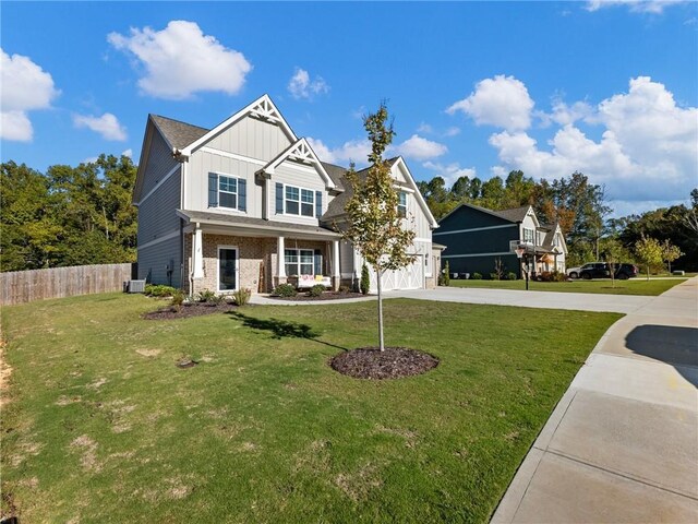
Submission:
<svg viewBox="0 0 698 524">
<path fill-rule="evenodd" d="M 628 281 L 593 279 L 569 282 L 529 282 L 533 291 L 600 293 L 606 295 L 649 295 L 657 296 L 681 284 L 685 278 L 650 279 L 630 278 Z M 488 289 L 526 289 L 525 281 L 450 281 L 453 287 L 476 287 Z"/>
</svg>

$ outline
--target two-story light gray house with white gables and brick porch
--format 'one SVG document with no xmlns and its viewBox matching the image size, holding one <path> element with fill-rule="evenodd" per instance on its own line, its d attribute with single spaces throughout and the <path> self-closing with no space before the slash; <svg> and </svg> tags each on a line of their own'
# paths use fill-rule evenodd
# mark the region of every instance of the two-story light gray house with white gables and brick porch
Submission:
<svg viewBox="0 0 698 524">
<path fill-rule="evenodd" d="M 417 238 L 414 262 L 387 272 L 384 288 L 433 287 L 438 226 L 405 160 L 390 166 Z M 336 231 L 350 195 L 345 174 L 296 136 L 267 95 L 213 129 L 149 115 L 133 193 L 139 278 L 190 294 L 352 286 L 363 261 Z"/>
</svg>

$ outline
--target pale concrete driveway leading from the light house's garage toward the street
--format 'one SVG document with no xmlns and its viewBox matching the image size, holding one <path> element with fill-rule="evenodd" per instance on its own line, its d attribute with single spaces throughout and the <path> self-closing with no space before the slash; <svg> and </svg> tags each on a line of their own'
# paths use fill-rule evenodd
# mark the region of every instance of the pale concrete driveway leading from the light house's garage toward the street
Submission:
<svg viewBox="0 0 698 524">
<path fill-rule="evenodd" d="M 521 284 L 524 285 L 524 284 Z M 631 313 L 647 306 L 654 297 L 629 295 L 594 295 L 590 293 L 514 291 L 510 289 L 473 289 L 437 287 L 386 291 L 386 298 L 405 297 L 447 302 L 494 303 L 521 308 L 573 309 L 578 311 L 611 311 Z"/>
</svg>

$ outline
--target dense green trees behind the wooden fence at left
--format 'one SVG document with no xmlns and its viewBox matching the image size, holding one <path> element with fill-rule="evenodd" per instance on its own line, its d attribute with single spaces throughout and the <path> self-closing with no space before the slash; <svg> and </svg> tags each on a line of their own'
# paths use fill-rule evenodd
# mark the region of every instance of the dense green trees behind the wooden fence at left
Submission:
<svg viewBox="0 0 698 524">
<path fill-rule="evenodd" d="M 0 165 L 0 267 L 37 270 L 136 260 L 136 166 L 100 155 L 40 172 Z"/>
</svg>

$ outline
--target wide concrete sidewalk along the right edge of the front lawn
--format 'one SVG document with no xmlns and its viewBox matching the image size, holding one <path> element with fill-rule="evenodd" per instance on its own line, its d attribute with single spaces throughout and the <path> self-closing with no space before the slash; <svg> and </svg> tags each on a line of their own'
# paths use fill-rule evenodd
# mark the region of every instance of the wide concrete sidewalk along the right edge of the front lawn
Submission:
<svg viewBox="0 0 698 524">
<path fill-rule="evenodd" d="M 492 522 L 698 522 L 697 384 L 695 277 L 599 341 Z"/>
</svg>

